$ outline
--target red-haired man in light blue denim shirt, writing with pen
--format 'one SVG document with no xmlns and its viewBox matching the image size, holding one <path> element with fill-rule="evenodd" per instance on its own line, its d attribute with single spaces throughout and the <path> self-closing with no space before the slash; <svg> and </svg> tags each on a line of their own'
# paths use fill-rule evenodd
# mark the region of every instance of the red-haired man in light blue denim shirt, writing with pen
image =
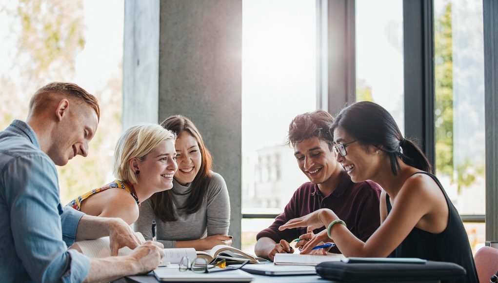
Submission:
<svg viewBox="0 0 498 283">
<path fill-rule="evenodd" d="M 59 200 L 55 165 L 88 155 L 99 122 L 97 99 L 71 83 L 51 83 L 29 103 L 25 122 L 0 132 L 0 281 L 111 281 L 156 268 L 164 256 L 158 243 L 140 240 L 118 218 L 85 215 Z M 84 176 L 81 176 L 84 177 Z M 68 250 L 75 241 L 110 236 L 117 255 L 89 259 Z"/>
</svg>

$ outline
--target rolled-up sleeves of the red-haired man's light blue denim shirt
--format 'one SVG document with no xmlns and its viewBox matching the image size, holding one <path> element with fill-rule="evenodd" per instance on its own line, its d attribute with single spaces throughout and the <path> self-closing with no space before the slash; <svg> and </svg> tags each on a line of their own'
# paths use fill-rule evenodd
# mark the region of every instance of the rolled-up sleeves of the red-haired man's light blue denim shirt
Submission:
<svg viewBox="0 0 498 283">
<path fill-rule="evenodd" d="M 83 214 L 60 205 L 53 162 L 42 154 L 20 156 L 3 174 L 16 254 L 31 280 L 82 282 L 90 260 L 66 244 L 74 242 Z"/>
</svg>

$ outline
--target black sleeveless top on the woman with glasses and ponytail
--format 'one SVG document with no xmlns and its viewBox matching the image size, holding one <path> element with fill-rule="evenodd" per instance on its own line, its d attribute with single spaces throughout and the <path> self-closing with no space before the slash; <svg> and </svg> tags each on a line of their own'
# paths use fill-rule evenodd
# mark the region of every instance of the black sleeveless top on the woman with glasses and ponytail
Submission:
<svg viewBox="0 0 498 283">
<path fill-rule="evenodd" d="M 457 209 L 446 195 L 443 186 L 436 176 L 418 172 L 415 174 L 426 174 L 431 176 L 438 184 L 439 188 L 446 198 L 448 204 L 448 226 L 439 233 L 433 234 L 416 227 L 411 230 L 410 234 L 401 242 L 401 244 L 389 255 L 390 258 L 421 258 L 428 261 L 450 262 L 455 263 L 467 271 L 465 279 L 456 281 L 442 282 L 478 282 L 476 265 L 472 250 L 469 244 L 469 238 L 465 232 L 464 225 L 460 219 Z M 385 201 L 387 204 L 387 214 L 391 211 L 389 195 L 386 194 Z"/>
</svg>

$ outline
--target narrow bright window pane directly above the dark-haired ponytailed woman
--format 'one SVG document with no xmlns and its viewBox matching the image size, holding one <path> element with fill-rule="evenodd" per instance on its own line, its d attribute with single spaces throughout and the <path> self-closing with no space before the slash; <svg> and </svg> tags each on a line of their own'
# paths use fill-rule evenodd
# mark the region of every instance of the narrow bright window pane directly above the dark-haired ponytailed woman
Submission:
<svg viewBox="0 0 498 283">
<path fill-rule="evenodd" d="M 404 133 L 403 1 L 356 1 L 356 100 L 373 101 Z"/>
</svg>

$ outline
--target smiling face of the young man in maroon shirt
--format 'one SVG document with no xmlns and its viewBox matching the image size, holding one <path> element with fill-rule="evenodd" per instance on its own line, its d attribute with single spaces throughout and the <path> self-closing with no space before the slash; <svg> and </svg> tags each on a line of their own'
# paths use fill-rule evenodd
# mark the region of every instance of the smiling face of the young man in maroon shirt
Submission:
<svg viewBox="0 0 498 283">
<path fill-rule="evenodd" d="M 327 185 L 332 182 L 334 172 L 340 170 L 335 154 L 325 141 L 311 138 L 294 144 L 294 156 L 299 169 L 313 184 Z"/>
</svg>

